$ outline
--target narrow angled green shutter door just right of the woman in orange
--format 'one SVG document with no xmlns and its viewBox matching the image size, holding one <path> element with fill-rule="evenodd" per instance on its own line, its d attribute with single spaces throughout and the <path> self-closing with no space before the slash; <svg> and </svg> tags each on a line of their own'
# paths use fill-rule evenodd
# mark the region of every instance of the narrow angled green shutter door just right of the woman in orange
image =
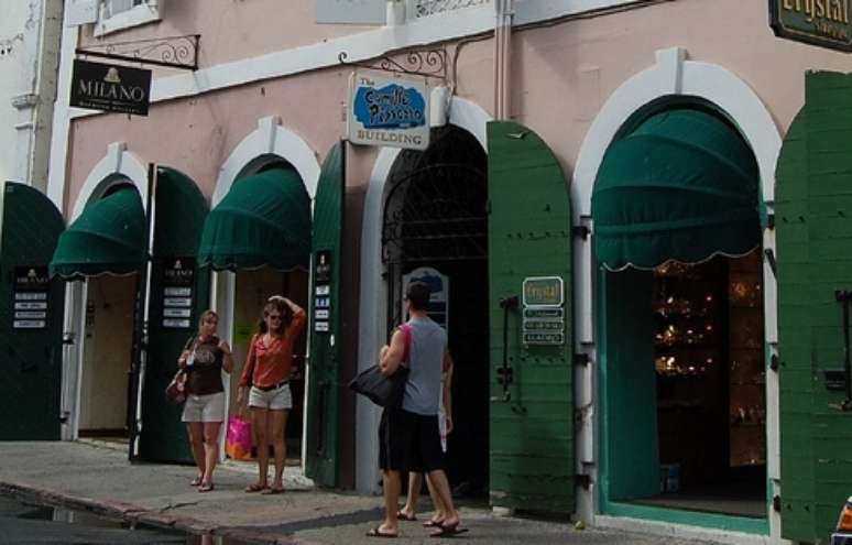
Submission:
<svg viewBox="0 0 852 545">
<path fill-rule="evenodd" d="M 314 233 L 310 282 L 310 367 L 308 370 L 307 462 L 306 473 L 317 483 L 334 487 L 338 476 L 338 401 L 340 395 L 340 259 L 343 226 L 345 150 L 335 144 L 323 163 L 314 204 Z M 319 255 L 330 258 L 328 317 L 317 319 L 316 302 Z M 327 283 L 320 283 L 328 285 Z M 324 310 L 324 308 L 320 308 Z M 327 321 L 328 331 L 317 331 L 317 323 Z"/>
</svg>

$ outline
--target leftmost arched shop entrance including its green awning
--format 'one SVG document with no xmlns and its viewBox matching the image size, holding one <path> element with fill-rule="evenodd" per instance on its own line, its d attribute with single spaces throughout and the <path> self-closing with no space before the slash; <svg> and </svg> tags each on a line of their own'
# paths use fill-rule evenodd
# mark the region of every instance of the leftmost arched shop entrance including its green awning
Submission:
<svg viewBox="0 0 852 545">
<path fill-rule="evenodd" d="M 148 218 L 129 179 L 106 179 L 99 195 L 59 236 L 51 274 L 85 281 L 80 338 L 81 437 L 119 443 L 132 439 L 136 424 L 141 350 L 141 281 Z"/>
</svg>

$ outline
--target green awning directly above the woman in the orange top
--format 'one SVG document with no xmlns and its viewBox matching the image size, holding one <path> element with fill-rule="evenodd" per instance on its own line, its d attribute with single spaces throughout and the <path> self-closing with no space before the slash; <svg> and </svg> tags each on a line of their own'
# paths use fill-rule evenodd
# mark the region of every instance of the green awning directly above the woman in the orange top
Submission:
<svg viewBox="0 0 852 545">
<path fill-rule="evenodd" d="M 310 197 L 298 173 L 275 168 L 238 179 L 207 216 L 198 263 L 214 269 L 307 269 Z"/>
</svg>

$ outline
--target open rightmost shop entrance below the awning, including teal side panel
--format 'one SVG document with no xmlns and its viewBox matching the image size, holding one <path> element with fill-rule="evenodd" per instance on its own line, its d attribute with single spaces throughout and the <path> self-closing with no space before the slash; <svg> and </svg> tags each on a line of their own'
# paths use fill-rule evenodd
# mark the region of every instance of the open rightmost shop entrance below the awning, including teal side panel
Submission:
<svg viewBox="0 0 852 545">
<path fill-rule="evenodd" d="M 603 273 L 611 501 L 766 516 L 760 258 Z"/>
</svg>

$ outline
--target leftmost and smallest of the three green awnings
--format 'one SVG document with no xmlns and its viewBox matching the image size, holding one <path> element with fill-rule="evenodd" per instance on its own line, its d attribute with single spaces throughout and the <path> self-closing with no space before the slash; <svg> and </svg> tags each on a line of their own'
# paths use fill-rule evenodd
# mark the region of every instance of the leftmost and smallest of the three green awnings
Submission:
<svg viewBox="0 0 852 545">
<path fill-rule="evenodd" d="M 145 258 L 145 211 L 135 187 L 120 186 L 89 203 L 59 236 L 51 275 L 79 279 L 103 273 L 129 274 Z"/>
</svg>

